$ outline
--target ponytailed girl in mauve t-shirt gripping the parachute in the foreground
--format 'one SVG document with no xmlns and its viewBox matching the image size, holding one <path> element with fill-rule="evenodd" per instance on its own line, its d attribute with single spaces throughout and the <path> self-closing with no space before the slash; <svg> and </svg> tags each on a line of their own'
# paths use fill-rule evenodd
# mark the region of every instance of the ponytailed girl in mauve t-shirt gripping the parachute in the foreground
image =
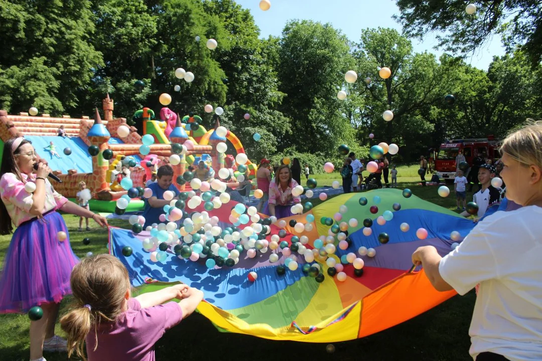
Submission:
<svg viewBox="0 0 542 361">
<path fill-rule="evenodd" d="M 68 357 L 154 361 L 154 343 L 196 310 L 203 292 L 178 284 L 132 298 L 128 271 L 113 255 L 87 257 L 70 277 L 74 304 L 60 324 Z M 180 302 L 167 302 L 179 299 Z M 165 303 L 167 302 L 167 303 Z"/>
</svg>

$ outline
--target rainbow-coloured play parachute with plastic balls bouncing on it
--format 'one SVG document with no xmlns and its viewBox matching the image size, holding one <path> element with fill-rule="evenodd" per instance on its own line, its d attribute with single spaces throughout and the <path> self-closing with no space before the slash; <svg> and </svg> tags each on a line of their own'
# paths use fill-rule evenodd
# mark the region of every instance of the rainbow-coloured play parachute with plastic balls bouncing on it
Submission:
<svg viewBox="0 0 542 361">
<path fill-rule="evenodd" d="M 408 196 L 408 192 L 405 195 Z M 217 216 L 222 229 L 231 226 L 228 219 L 232 206 L 234 202 L 224 204 L 210 211 L 209 216 Z M 195 211 L 202 212 L 202 209 Z M 294 271 L 286 267 L 285 273 L 279 274 L 282 272 L 278 272 L 278 266 L 283 265 L 289 252 L 297 255 L 296 246 L 290 247 L 286 254 L 279 252 L 280 247 L 274 251 L 273 247 L 266 247 L 257 251 L 254 258 L 244 251 L 238 263 L 231 267 L 208 268 L 206 259 L 181 259 L 171 247 L 164 261 L 153 262 L 151 254 L 142 247 L 149 232 L 135 235 L 119 228 L 110 230 L 110 252 L 126 265 L 132 284 L 139 286 L 140 292 L 153 291 L 174 281 L 203 290 L 205 302 L 198 306 L 198 311 L 220 330 L 275 340 L 340 342 L 397 325 L 454 296 L 453 291 L 435 291 L 423 271 L 409 272 L 411 254 L 424 245 L 433 245 L 441 255 L 447 254 L 454 242 L 460 242 L 474 227 L 472 220 L 415 195 L 405 198 L 397 189 L 340 195 L 305 214 L 285 220 L 287 234 L 280 241 L 287 241 L 289 245 L 292 237 L 298 240 L 306 235 L 308 242 L 301 248 L 307 250 L 311 250 L 316 241 L 321 247 L 318 253 L 314 252 L 320 270 L 314 267 L 307 270 L 308 266 L 304 270 L 306 258 L 299 255 L 295 259 L 299 267 L 291 267 Z M 364 220 L 369 226 L 365 229 Z M 302 233 L 295 231 L 300 230 L 299 226 L 295 228 L 296 223 L 305 224 Z M 270 226 L 268 241 L 283 231 L 278 224 Z M 427 231 L 427 237 L 420 228 Z M 339 245 L 339 239 L 346 238 L 346 232 L 340 232 L 346 229 L 348 243 Z M 328 247 L 334 252 L 319 258 L 319 254 L 326 253 L 322 239 L 334 246 Z M 128 257 L 122 255 L 126 246 L 133 250 Z M 270 261 L 272 253 L 278 255 L 278 261 Z M 327 257 L 333 260 L 326 262 Z M 272 260 L 276 258 L 273 256 Z M 363 262 L 353 262 L 353 258 Z M 363 270 L 356 271 L 357 274 L 363 274 L 354 274 L 352 262 Z M 330 264 L 334 270 L 329 271 Z M 343 281 L 338 274 L 330 275 L 341 267 L 346 273 L 346 277 L 341 274 Z M 249 279 L 250 272 L 256 272 L 256 280 L 251 280 L 254 273 Z M 325 275 L 323 281 L 320 275 L 321 282 L 314 277 L 318 273 Z"/>
</svg>

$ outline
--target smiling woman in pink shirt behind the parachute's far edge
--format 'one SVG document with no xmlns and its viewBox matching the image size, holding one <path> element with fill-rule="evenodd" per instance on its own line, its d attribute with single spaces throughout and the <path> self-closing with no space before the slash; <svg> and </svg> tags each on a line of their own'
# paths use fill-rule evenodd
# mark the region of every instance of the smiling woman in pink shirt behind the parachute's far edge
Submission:
<svg viewBox="0 0 542 361">
<path fill-rule="evenodd" d="M 292 195 L 292 189 L 298 186 L 298 182 L 292 179 L 292 172 L 287 165 L 280 166 L 275 173 L 275 180 L 269 185 L 269 203 L 265 214 L 274 215 L 276 218 L 292 216 L 291 207 L 294 203 L 300 203 L 299 196 Z"/>
</svg>

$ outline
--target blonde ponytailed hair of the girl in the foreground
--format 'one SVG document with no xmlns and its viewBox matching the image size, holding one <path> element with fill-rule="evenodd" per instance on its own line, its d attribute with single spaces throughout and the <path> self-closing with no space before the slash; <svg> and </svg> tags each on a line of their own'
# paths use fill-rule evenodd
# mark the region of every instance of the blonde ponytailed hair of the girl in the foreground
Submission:
<svg viewBox="0 0 542 361">
<path fill-rule="evenodd" d="M 84 258 L 70 277 L 74 296 L 71 310 L 60 319 L 62 330 L 68 336 L 68 358 L 73 351 L 86 361 L 85 339 L 94 327 L 112 322 L 122 312 L 130 278 L 126 267 L 109 254 Z M 98 333 L 96 333 L 98 347 Z"/>
</svg>

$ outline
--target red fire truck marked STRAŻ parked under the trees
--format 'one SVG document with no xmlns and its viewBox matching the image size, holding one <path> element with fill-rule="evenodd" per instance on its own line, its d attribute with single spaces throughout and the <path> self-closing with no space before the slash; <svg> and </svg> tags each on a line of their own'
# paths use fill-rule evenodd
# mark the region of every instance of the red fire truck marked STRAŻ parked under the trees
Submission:
<svg viewBox="0 0 542 361">
<path fill-rule="evenodd" d="M 473 165 L 475 153 L 478 153 L 483 160 L 493 160 L 495 164 L 500 159 L 498 148 L 498 141 L 492 135 L 482 139 L 453 139 L 442 143 L 438 149 L 432 149 L 429 161 L 434 162 L 438 178 L 449 182 L 455 179 L 457 169 L 455 157 L 460 151 L 463 152 L 470 167 Z"/>
</svg>

